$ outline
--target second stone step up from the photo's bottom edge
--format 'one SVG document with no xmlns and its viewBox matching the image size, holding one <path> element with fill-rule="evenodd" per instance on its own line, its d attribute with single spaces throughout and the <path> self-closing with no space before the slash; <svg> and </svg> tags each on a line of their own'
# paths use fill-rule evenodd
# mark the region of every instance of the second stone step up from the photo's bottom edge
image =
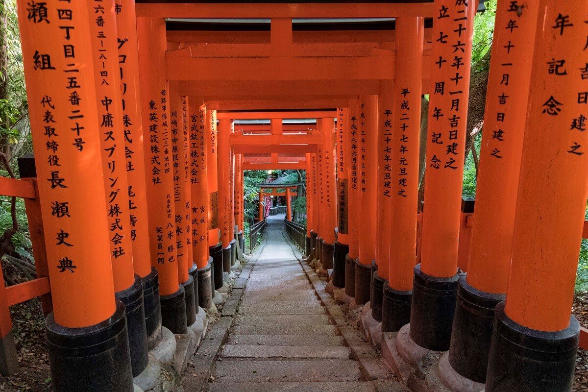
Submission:
<svg viewBox="0 0 588 392">
<path fill-rule="evenodd" d="M 359 381 L 358 363 L 343 359 L 220 361 L 215 382 Z"/>
</svg>

